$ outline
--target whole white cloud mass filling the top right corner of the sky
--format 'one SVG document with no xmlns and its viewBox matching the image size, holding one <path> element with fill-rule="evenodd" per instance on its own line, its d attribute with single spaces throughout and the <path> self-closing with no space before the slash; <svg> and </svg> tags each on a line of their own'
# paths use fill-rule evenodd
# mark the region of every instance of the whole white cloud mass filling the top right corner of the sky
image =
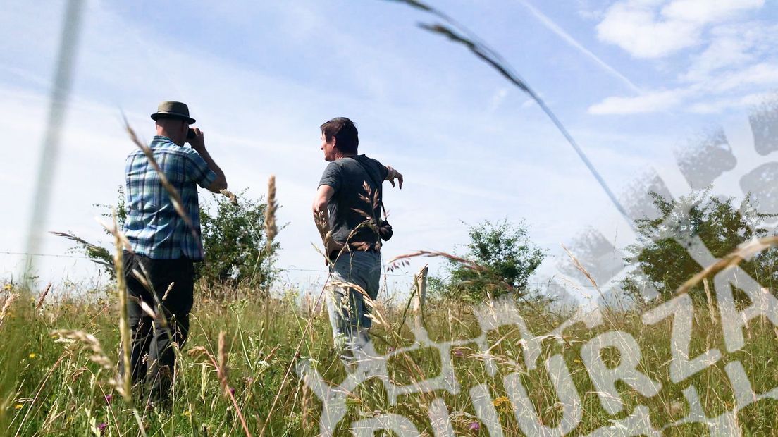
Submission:
<svg viewBox="0 0 778 437">
<path fill-rule="evenodd" d="M 744 15 L 764 0 L 622 0 L 605 13 L 598 37 L 636 58 L 691 53 L 678 86 L 636 97 L 609 96 L 590 114 L 640 114 L 671 108 L 696 114 L 744 107 L 744 95 L 778 84 L 778 26 Z M 693 49 L 693 50 L 692 50 Z M 657 62 L 667 70 L 671 64 Z M 672 73 L 671 73 L 672 74 Z M 750 97 L 749 97 L 750 98 Z M 745 100 L 744 100 L 745 99 Z"/>
</svg>

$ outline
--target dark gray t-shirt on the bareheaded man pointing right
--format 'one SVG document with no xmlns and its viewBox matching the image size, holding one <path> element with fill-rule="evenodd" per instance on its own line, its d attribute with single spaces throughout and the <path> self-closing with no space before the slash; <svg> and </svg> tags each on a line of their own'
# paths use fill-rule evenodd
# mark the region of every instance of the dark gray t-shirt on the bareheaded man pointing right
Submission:
<svg viewBox="0 0 778 437">
<path fill-rule="evenodd" d="M 332 238 L 335 241 L 345 243 L 349 234 L 366 220 L 365 214 L 372 214 L 377 220 L 380 219 L 383 194 L 381 184 L 388 173 L 386 166 L 364 155 L 332 161 L 324 169 L 319 185 L 329 185 L 335 190 L 327 205 Z M 365 190 L 365 183 L 370 187 L 370 196 Z M 378 201 L 373 205 L 373 195 L 376 191 Z M 370 198 L 370 203 L 365 198 Z M 355 211 L 356 209 L 365 214 Z M 373 229 L 363 226 L 349 239 L 349 244 L 355 247 L 360 245 L 359 243 L 367 243 L 370 247 L 377 248 L 379 241 L 380 237 Z"/>
</svg>

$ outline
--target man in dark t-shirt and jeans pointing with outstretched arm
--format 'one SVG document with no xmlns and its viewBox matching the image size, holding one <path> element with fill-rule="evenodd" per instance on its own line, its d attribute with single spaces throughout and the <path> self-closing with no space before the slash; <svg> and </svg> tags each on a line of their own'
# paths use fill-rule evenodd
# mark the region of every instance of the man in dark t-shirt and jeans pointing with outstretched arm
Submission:
<svg viewBox="0 0 778 437">
<path fill-rule="evenodd" d="M 388 180 L 394 187 L 398 180 L 402 188 L 403 181 L 390 166 L 357 155 L 358 146 L 356 126 L 348 118 L 321 125 L 321 150 L 329 164 L 314 199 L 314 218 L 330 266 L 332 335 L 336 346 L 352 353 L 370 340 L 370 305 L 365 299 L 375 300 L 380 284 L 382 183 Z"/>
</svg>

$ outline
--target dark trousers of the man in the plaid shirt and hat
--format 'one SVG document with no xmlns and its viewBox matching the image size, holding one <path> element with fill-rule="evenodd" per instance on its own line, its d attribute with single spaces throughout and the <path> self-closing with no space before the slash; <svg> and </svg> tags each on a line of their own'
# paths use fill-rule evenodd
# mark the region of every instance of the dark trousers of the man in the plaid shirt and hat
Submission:
<svg viewBox="0 0 778 437">
<path fill-rule="evenodd" d="M 152 289 L 138 281 L 133 271 L 145 277 Z M 173 342 L 181 348 L 189 333 L 189 313 L 194 302 L 194 265 L 185 257 L 154 260 L 125 251 L 124 278 L 131 333 L 132 385 L 145 383 L 149 400 L 166 403 L 170 399 L 175 373 Z M 168 291 L 171 283 L 173 288 Z M 142 309 L 141 302 L 145 302 L 155 316 Z M 124 374 L 123 365 L 120 365 L 120 372 Z"/>
</svg>

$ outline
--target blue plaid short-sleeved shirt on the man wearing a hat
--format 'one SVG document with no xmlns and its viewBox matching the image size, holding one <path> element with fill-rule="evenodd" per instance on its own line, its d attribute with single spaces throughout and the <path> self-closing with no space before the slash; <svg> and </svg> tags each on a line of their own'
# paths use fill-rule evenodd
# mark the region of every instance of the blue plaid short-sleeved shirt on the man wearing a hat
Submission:
<svg viewBox="0 0 778 437">
<path fill-rule="evenodd" d="M 127 219 L 124 234 L 135 253 L 158 260 L 187 257 L 203 260 L 200 237 L 200 205 L 195 184 L 209 187 L 216 173 L 202 156 L 190 147 L 176 145 L 170 138 L 157 135 L 149 149 L 167 180 L 184 201 L 184 211 L 195 225 L 197 237 L 180 218 L 170 196 L 159 181 L 142 150 L 127 157 L 124 175 L 127 184 Z"/>
</svg>

